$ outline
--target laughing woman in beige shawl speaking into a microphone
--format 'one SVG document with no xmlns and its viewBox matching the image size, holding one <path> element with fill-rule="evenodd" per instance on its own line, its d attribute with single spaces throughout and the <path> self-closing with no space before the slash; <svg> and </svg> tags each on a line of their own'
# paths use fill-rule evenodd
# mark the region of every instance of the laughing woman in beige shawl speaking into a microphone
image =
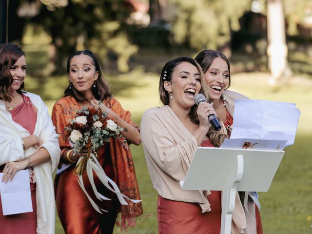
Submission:
<svg viewBox="0 0 312 234">
<path fill-rule="evenodd" d="M 208 120 L 208 116 L 216 115 L 213 105 L 206 101 L 195 105 L 198 93 L 208 98 L 201 67 L 188 57 L 173 59 L 160 75 L 159 98 L 163 106 L 147 110 L 141 120 L 144 154 L 159 194 L 159 234 L 220 233 L 221 192 L 182 190 L 179 185 L 197 147 L 218 146 L 226 136 L 223 129 L 213 130 Z M 236 200 L 232 233 L 239 234 L 243 233 L 246 220 L 238 195 Z"/>
</svg>

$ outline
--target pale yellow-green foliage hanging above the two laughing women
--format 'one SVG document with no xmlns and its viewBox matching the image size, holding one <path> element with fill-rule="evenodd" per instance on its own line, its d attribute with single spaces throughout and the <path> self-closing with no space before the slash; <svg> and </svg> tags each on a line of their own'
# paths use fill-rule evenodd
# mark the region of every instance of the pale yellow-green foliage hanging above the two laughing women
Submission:
<svg viewBox="0 0 312 234">
<path fill-rule="evenodd" d="M 169 0 L 172 40 L 198 50 L 228 43 L 238 30 L 239 18 L 250 10 L 251 0 Z"/>
</svg>

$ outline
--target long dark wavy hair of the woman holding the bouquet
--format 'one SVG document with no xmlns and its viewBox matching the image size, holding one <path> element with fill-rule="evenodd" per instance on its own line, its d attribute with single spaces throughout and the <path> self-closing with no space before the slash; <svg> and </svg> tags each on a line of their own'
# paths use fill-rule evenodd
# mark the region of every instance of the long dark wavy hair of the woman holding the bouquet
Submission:
<svg viewBox="0 0 312 234">
<path fill-rule="evenodd" d="M 109 92 L 109 84 L 105 80 L 103 76 L 103 72 L 101 69 L 101 66 L 99 64 L 99 61 L 95 54 L 90 51 L 90 50 L 81 50 L 81 51 L 76 51 L 74 54 L 70 55 L 67 59 L 67 74 L 70 72 L 70 62 L 73 59 L 73 57 L 78 56 L 78 55 L 87 55 L 92 59 L 93 65 L 96 68 L 96 72 L 98 72 L 98 79 L 96 80 L 96 87 L 92 86 L 92 93 L 94 97 L 97 100 L 104 101 L 106 98 L 111 98 L 112 94 Z M 79 92 L 75 87 L 69 83 L 68 87 L 65 89 L 64 96 L 72 96 L 74 97 L 77 101 L 84 101 L 87 100 L 81 92 Z"/>
</svg>

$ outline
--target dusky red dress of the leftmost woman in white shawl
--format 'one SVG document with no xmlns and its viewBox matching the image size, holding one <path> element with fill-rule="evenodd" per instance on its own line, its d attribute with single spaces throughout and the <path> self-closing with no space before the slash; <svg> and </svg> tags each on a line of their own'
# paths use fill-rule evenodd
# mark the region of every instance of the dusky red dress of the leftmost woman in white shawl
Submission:
<svg viewBox="0 0 312 234">
<path fill-rule="evenodd" d="M 34 133 L 37 121 L 36 111 L 30 99 L 22 95 L 24 102 L 15 107 L 10 113 L 13 121 L 25 128 L 30 135 Z M 0 172 L 4 165 L 0 166 Z M 2 215 L 2 204 L 0 198 L 0 233 L 3 234 L 36 234 L 37 229 L 37 206 L 36 206 L 36 183 L 30 183 L 33 212 L 16 215 Z"/>
</svg>

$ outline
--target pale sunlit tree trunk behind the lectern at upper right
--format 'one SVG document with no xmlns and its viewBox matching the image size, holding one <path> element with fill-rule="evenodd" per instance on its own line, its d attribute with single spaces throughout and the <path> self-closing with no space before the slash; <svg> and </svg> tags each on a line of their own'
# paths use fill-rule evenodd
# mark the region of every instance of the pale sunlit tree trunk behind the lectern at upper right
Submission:
<svg viewBox="0 0 312 234">
<path fill-rule="evenodd" d="M 282 0 L 267 0 L 268 48 L 269 69 L 271 71 L 270 85 L 278 79 L 289 77 L 292 74 L 288 66 L 285 34 L 285 18 Z"/>
</svg>

